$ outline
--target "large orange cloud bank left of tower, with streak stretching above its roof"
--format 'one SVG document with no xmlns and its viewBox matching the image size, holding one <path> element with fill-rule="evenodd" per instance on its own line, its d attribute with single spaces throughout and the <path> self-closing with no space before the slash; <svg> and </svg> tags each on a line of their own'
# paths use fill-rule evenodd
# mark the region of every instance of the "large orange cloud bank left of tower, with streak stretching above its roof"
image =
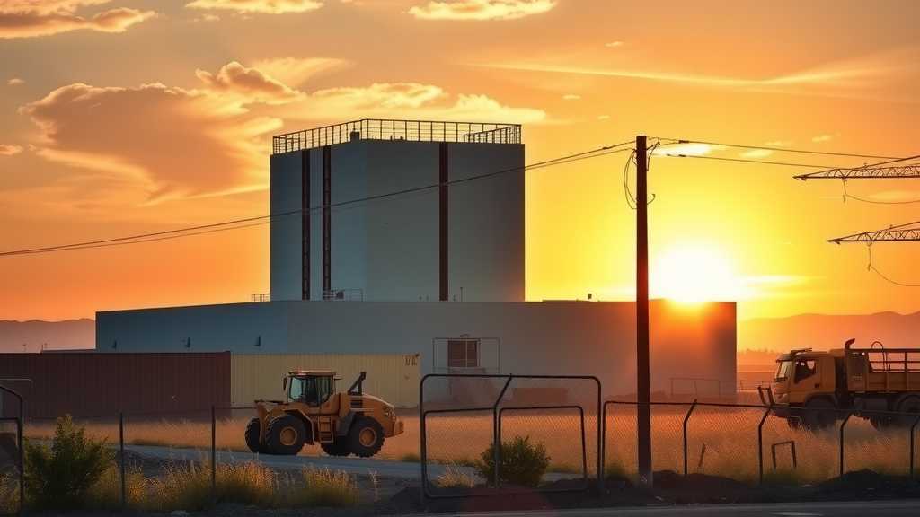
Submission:
<svg viewBox="0 0 920 517">
<path fill-rule="evenodd" d="M 453 96 L 419 83 L 308 93 L 237 62 L 196 75 L 202 85 L 191 89 L 77 83 L 20 112 L 40 129 L 36 155 L 87 171 L 86 181 L 130 184 L 130 198 L 141 203 L 264 190 L 269 137 L 280 132 L 282 119 L 312 126 L 365 117 L 508 122 L 546 117 L 539 109 L 505 106 L 484 95 Z M 91 196 L 92 190 L 81 195 Z"/>
</svg>

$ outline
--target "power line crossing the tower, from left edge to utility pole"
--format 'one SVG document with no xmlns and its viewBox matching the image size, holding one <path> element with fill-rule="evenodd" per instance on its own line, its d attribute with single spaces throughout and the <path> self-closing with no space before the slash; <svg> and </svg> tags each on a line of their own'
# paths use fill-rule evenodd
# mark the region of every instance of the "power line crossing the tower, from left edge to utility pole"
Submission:
<svg viewBox="0 0 920 517">
<path fill-rule="evenodd" d="M 267 223 L 270 223 L 272 219 L 277 219 L 279 217 L 284 217 L 288 215 L 299 214 L 299 213 L 304 213 L 304 212 L 315 212 L 315 211 L 324 210 L 326 208 L 339 208 L 342 206 L 347 206 L 347 205 L 367 202 L 367 201 L 382 200 L 382 199 L 386 199 L 390 197 L 406 195 L 406 194 L 420 192 L 424 190 L 438 189 L 445 185 L 452 186 L 452 185 L 466 183 L 466 182 L 474 181 L 478 179 L 492 178 L 495 176 L 499 176 L 501 174 L 521 172 L 521 171 L 526 171 L 526 170 L 534 170 L 534 169 L 543 168 L 543 167 L 553 167 L 553 166 L 558 166 L 558 165 L 563 165 L 563 164 L 569 164 L 569 163 L 584 160 L 584 159 L 596 158 L 596 157 L 600 157 L 604 155 L 610 155 L 613 153 L 620 153 L 620 152 L 629 150 L 628 148 L 623 148 L 623 146 L 627 144 L 633 144 L 633 143 L 631 141 L 628 141 L 628 142 L 624 142 L 620 144 L 604 145 L 602 147 L 598 147 L 590 151 L 575 153 L 573 155 L 560 156 L 558 158 L 544 160 L 542 162 L 536 162 L 534 164 L 526 165 L 523 167 L 512 167 L 512 168 L 500 169 L 497 171 L 492 171 L 492 172 L 480 174 L 477 176 L 470 176 L 467 178 L 454 179 L 454 180 L 446 181 L 443 183 L 439 182 L 439 183 L 434 183 L 431 185 L 425 185 L 421 187 L 396 190 L 392 192 L 386 192 L 383 194 L 376 194 L 373 196 L 365 196 L 362 198 L 357 198 L 357 199 L 348 200 L 348 201 L 339 201 L 335 203 L 330 203 L 328 205 L 320 205 L 320 206 L 316 206 L 312 208 L 291 210 L 291 211 L 285 211 L 285 212 L 280 212 L 280 213 L 270 213 L 268 215 L 245 217 L 241 219 L 234 219 L 234 220 L 223 221 L 219 223 L 201 224 L 197 226 L 178 228 L 175 230 L 164 230 L 160 232 L 138 234 L 138 235 L 133 235 L 133 236 L 122 236 L 122 237 L 114 237 L 114 238 L 109 238 L 109 239 L 84 241 L 84 242 L 77 242 L 77 243 L 71 243 L 71 244 L 65 244 L 65 245 L 59 245 L 59 246 L 33 247 L 33 248 L 26 248 L 26 249 L 10 250 L 10 251 L 5 251 L 5 252 L 0 252 L 0 258 L 13 257 L 17 255 L 49 253 L 53 251 L 66 251 L 66 250 L 71 250 L 71 249 L 123 246 L 123 245 L 129 245 L 129 244 L 153 242 L 153 241 L 158 241 L 158 240 L 167 240 L 171 238 L 179 238 L 179 237 L 184 237 L 184 236 L 198 236 L 198 235 L 213 233 L 212 230 L 215 230 L 218 228 L 222 230 L 233 230 L 233 229 L 238 229 L 238 228 L 245 228 L 245 227 L 248 227 L 249 225 L 255 225 L 255 224 L 247 224 L 247 223 L 260 222 L 259 224 L 267 224 Z M 247 225 L 239 226 L 238 224 L 247 224 Z M 200 231 L 200 230 L 203 230 L 203 231 Z"/>
</svg>

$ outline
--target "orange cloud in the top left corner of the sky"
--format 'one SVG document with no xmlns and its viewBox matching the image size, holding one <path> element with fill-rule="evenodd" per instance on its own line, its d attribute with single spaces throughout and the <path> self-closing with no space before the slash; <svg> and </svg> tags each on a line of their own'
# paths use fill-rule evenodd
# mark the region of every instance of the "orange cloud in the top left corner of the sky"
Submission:
<svg viewBox="0 0 920 517">
<path fill-rule="evenodd" d="M 71 30 L 124 32 L 132 25 L 155 17 L 154 11 L 118 7 L 83 17 L 76 11 L 110 0 L 6 0 L 0 3 L 0 39 L 51 36 Z"/>
</svg>

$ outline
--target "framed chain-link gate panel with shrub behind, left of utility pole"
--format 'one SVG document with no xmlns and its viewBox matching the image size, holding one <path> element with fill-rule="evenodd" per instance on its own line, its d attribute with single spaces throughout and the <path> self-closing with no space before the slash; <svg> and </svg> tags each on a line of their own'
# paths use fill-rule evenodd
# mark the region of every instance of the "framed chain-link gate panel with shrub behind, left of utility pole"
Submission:
<svg viewBox="0 0 920 517">
<path fill-rule="evenodd" d="M 594 377 L 427 375 L 419 410 L 423 491 L 447 498 L 587 489 L 603 471 L 600 409 Z M 512 472 L 521 465 L 502 454 L 546 474 Z"/>
</svg>

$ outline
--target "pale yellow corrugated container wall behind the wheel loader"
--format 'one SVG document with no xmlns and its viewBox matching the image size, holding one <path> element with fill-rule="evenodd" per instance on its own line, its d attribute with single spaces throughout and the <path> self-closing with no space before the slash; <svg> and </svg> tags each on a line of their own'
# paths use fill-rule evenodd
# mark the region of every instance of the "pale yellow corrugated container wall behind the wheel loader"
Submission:
<svg viewBox="0 0 920 517">
<path fill-rule="evenodd" d="M 282 399 L 282 377 L 291 370 L 333 370 L 346 390 L 367 372 L 364 393 L 379 396 L 397 408 L 419 403 L 420 358 L 402 355 L 234 355 L 231 359 L 231 398 L 235 407 L 251 406 L 258 398 Z"/>
</svg>

